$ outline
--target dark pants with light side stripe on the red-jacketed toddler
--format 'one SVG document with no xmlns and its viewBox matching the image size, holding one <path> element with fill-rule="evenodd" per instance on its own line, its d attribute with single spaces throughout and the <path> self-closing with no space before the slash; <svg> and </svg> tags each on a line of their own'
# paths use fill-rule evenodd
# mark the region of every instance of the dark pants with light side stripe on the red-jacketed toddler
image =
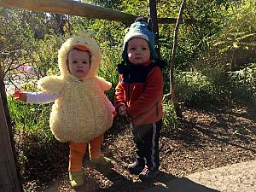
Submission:
<svg viewBox="0 0 256 192">
<path fill-rule="evenodd" d="M 162 120 L 152 124 L 131 124 L 133 140 L 136 144 L 137 163 L 148 168 L 159 168 L 159 138 Z"/>
</svg>

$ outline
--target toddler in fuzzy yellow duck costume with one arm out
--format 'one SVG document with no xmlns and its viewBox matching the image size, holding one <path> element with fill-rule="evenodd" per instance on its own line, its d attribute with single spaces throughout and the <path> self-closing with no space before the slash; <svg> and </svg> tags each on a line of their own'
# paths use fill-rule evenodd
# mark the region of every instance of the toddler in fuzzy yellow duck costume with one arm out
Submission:
<svg viewBox="0 0 256 192">
<path fill-rule="evenodd" d="M 102 155 L 104 132 L 113 122 L 114 108 L 104 91 L 111 83 L 96 76 L 101 51 L 89 33 L 69 38 L 61 45 L 58 64 L 61 76 L 38 81 L 41 92 L 15 92 L 15 99 L 29 103 L 55 102 L 49 126 L 55 138 L 68 142 L 69 178 L 73 187 L 84 183 L 82 160 L 89 143 L 90 160 L 99 166 L 113 167 Z"/>
</svg>

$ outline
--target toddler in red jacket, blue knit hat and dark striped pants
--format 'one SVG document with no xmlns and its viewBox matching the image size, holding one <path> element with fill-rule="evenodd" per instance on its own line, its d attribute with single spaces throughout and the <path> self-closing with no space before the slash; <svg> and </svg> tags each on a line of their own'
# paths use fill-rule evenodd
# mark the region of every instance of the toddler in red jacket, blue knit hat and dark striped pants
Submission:
<svg viewBox="0 0 256 192">
<path fill-rule="evenodd" d="M 154 32 L 136 20 L 125 35 L 123 61 L 118 65 L 119 84 L 114 105 L 119 115 L 131 121 L 137 158 L 127 169 L 142 181 L 154 178 L 159 170 L 159 139 L 163 108 L 163 62 L 154 49 Z"/>
</svg>

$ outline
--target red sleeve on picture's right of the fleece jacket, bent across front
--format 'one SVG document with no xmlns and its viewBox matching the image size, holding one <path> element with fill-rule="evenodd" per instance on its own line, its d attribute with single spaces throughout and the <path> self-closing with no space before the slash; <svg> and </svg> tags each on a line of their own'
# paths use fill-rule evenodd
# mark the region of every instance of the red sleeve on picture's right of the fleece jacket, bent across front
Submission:
<svg viewBox="0 0 256 192">
<path fill-rule="evenodd" d="M 142 95 L 127 108 L 128 115 L 131 118 L 136 118 L 137 115 L 153 108 L 155 103 L 158 102 L 163 95 L 163 89 L 164 82 L 160 67 L 154 67 L 154 69 L 148 73 L 146 87 Z"/>
</svg>

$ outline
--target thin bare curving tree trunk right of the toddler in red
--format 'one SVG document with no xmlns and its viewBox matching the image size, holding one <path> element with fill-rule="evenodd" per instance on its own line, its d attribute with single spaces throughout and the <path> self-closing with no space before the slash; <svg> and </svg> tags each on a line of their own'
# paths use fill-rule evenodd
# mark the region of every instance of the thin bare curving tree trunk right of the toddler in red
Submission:
<svg viewBox="0 0 256 192">
<path fill-rule="evenodd" d="M 171 57 L 171 64 L 170 64 L 170 96 L 172 97 L 172 102 L 174 104 L 176 113 L 178 117 L 181 117 L 181 108 L 178 106 L 176 95 L 175 95 L 175 89 L 174 89 L 174 67 L 175 67 L 175 55 L 176 55 L 176 50 L 177 50 L 177 33 L 178 33 L 178 27 L 179 24 L 182 20 L 182 15 L 183 15 L 183 9 L 185 7 L 186 1 L 183 0 L 181 3 L 180 9 L 179 9 L 179 14 L 177 17 L 177 22 L 175 26 L 175 31 L 173 34 L 173 46 L 172 46 L 172 57 Z"/>
</svg>

